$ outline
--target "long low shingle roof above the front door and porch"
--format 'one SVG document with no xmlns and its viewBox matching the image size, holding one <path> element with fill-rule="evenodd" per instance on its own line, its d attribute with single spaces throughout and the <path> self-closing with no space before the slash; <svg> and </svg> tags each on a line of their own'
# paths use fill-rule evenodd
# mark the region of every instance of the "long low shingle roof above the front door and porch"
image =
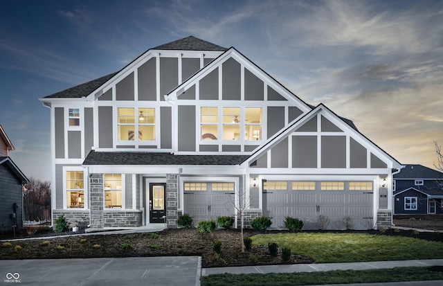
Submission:
<svg viewBox="0 0 443 286">
<path fill-rule="evenodd" d="M 247 155 L 175 155 L 154 152 L 89 152 L 83 165 L 239 165 Z"/>
</svg>

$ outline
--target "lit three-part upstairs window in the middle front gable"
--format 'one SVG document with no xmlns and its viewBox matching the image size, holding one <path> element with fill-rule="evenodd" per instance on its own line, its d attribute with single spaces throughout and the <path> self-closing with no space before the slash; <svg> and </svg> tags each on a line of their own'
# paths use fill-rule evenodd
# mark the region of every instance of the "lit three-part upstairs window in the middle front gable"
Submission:
<svg viewBox="0 0 443 286">
<path fill-rule="evenodd" d="M 219 140 L 220 137 L 224 141 L 262 140 L 262 110 L 262 107 L 221 107 L 220 112 L 218 107 L 201 107 L 201 140 Z"/>
</svg>

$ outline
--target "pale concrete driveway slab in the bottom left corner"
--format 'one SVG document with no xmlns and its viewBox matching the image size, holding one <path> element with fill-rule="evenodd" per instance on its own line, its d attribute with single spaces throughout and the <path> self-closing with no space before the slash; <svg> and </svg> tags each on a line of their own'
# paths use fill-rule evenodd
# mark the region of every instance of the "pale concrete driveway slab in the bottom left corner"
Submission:
<svg viewBox="0 0 443 286">
<path fill-rule="evenodd" d="M 199 256 L 0 260 L 0 284 L 200 285 Z"/>
</svg>

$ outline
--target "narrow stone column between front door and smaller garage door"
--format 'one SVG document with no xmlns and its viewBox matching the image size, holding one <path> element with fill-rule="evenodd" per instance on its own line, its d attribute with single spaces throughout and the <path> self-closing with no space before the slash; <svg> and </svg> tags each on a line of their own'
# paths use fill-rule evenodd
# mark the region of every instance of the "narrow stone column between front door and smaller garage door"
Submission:
<svg viewBox="0 0 443 286">
<path fill-rule="evenodd" d="M 177 229 L 179 218 L 179 175 L 166 174 L 166 225 L 168 229 Z"/>
</svg>

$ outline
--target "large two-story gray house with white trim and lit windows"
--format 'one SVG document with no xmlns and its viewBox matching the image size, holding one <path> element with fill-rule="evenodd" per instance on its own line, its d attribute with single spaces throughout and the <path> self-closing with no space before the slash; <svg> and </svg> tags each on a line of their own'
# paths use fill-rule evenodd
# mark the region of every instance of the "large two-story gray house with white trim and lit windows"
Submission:
<svg viewBox="0 0 443 286">
<path fill-rule="evenodd" d="M 325 105 L 313 107 L 235 48 L 196 37 L 40 98 L 51 109 L 53 219 L 91 229 L 267 215 L 274 228 L 390 226 L 401 164 Z"/>
</svg>

